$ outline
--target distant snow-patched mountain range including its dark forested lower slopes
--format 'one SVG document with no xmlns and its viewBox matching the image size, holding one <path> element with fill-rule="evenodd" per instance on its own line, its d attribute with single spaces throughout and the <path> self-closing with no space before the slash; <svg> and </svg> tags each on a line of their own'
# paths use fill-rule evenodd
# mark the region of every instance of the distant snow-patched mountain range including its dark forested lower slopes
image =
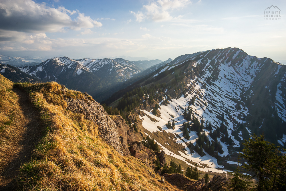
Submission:
<svg viewBox="0 0 286 191">
<path fill-rule="evenodd" d="M 96 100 L 102 101 L 119 90 L 122 82 L 132 78 L 150 64 L 158 62 L 161 61 L 130 62 L 122 58 L 74 60 L 59 57 L 35 66 L 25 66 L 20 70 L 44 82 L 56 81 L 68 88 L 87 91 Z"/>
</svg>

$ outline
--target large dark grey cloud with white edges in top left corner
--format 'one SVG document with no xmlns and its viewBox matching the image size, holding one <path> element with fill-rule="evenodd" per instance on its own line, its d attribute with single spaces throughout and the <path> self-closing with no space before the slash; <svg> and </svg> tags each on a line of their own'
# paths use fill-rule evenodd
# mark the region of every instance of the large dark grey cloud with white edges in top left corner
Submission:
<svg viewBox="0 0 286 191">
<path fill-rule="evenodd" d="M 7 31 L 58 32 L 102 26 L 79 11 L 62 6 L 55 9 L 31 0 L 1 0 L 0 10 L 0 29 Z"/>
</svg>

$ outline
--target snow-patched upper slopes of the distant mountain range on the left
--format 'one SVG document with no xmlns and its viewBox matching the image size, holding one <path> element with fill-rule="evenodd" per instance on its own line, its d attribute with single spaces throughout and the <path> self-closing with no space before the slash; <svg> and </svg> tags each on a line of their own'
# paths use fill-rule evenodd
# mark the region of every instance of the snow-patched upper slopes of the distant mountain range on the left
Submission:
<svg viewBox="0 0 286 191">
<path fill-rule="evenodd" d="M 153 61 L 146 61 L 149 64 L 153 63 Z M 158 62 L 158 60 L 154 61 Z M 50 67 L 50 64 L 53 63 L 53 66 L 56 68 L 61 68 L 60 72 L 52 72 L 51 76 L 45 75 L 48 73 L 48 70 L 52 71 L 55 68 L 47 68 L 46 66 Z M 130 62 L 128 60 L 124 60 L 122 58 L 104 58 L 104 59 L 91 59 L 91 58 L 84 58 L 80 60 L 74 60 L 67 57 L 59 57 L 59 58 L 51 58 L 42 62 L 37 66 L 25 66 L 21 68 L 23 72 L 27 74 L 34 75 L 41 80 L 51 80 L 52 76 L 55 76 L 54 79 L 58 78 L 57 76 L 60 75 L 64 70 L 67 68 L 73 69 L 73 75 L 80 75 L 82 72 L 92 72 L 99 77 L 118 77 L 119 81 L 125 81 L 128 78 L 132 78 L 132 76 L 138 72 L 142 71 L 142 68 L 146 68 L 148 63 L 145 61 L 138 61 L 138 62 Z M 144 64 L 146 66 L 144 66 Z M 45 71 L 45 72 L 43 72 Z M 44 74 L 45 73 L 45 74 Z M 42 75 L 41 75 L 42 74 Z"/>
</svg>

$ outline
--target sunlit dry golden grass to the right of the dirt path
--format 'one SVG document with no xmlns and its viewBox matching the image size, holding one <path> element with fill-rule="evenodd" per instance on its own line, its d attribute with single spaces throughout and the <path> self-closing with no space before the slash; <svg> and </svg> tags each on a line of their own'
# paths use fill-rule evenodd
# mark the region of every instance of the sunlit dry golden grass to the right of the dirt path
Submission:
<svg viewBox="0 0 286 191">
<path fill-rule="evenodd" d="M 138 159 L 123 157 L 98 137 L 97 125 L 83 115 L 65 110 L 61 86 L 17 84 L 30 92 L 32 104 L 45 125 L 43 137 L 32 159 L 20 167 L 21 190 L 178 190 L 156 175 Z M 69 97 L 84 99 L 68 90 Z"/>
</svg>

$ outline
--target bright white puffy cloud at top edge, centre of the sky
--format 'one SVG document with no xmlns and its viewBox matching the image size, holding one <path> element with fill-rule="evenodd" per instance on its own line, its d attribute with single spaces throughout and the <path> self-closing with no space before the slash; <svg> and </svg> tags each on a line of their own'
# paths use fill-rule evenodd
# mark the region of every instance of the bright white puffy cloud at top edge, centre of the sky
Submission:
<svg viewBox="0 0 286 191">
<path fill-rule="evenodd" d="M 142 22 L 145 18 L 152 19 L 155 22 L 159 21 L 169 21 L 173 17 L 170 15 L 170 12 L 174 9 L 181 9 L 187 4 L 192 3 L 189 0 L 157 0 L 148 5 L 144 5 L 145 13 L 138 11 L 135 13 L 131 11 L 136 17 L 136 21 Z M 176 17 L 178 18 L 178 17 Z"/>
</svg>

